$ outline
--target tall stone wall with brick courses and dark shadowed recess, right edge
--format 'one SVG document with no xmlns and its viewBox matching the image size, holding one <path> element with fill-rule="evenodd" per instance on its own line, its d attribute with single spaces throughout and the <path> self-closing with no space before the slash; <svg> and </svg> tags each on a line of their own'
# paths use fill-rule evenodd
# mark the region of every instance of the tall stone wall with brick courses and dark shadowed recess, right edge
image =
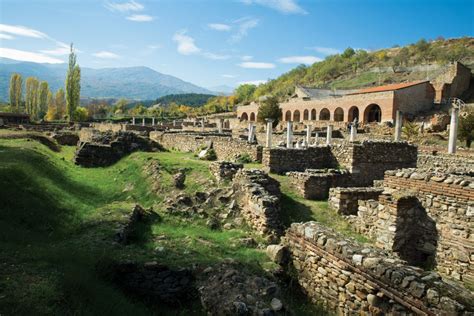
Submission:
<svg viewBox="0 0 474 316">
<path fill-rule="evenodd" d="M 377 201 L 359 202 L 349 218 L 356 230 L 414 264 L 474 284 L 474 178 L 404 169 L 387 171 L 384 187 Z"/>
</svg>

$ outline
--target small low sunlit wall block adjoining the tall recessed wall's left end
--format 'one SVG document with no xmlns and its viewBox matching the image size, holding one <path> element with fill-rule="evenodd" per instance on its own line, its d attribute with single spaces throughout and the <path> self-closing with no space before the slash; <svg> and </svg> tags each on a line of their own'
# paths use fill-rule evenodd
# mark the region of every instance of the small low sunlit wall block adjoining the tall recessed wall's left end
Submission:
<svg viewBox="0 0 474 316">
<path fill-rule="evenodd" d="M 359 200 L 376 200 L 382 194 L 381 188 L 352 187 L 329 190 L 329 207 L 342 215 L 357 215 Z"/>
</svg>

